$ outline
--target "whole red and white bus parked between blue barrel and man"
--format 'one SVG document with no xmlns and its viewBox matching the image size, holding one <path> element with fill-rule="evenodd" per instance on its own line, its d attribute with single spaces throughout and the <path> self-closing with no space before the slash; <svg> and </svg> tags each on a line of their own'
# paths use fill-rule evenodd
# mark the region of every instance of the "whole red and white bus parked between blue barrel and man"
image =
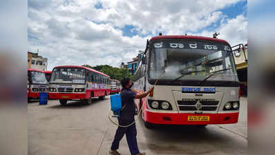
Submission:
<svg viewBox="0 0 275 155">
<path fill-rule="evenodd" d="M 49 82 L 50 99 L 59 99 L 61 105 L 68 100 L 82 100 L 92 103 L 93 97 L 105 99 L 110 94 L 110 76 L 77 65 L 63 65 L 53 68 Z"/>
</svg>

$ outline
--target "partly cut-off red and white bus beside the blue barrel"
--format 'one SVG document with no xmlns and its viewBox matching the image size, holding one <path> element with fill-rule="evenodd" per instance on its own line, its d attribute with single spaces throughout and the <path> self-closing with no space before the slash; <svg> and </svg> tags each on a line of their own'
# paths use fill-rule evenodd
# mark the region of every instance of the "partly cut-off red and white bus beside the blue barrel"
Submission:
<svg viewBox="0 0 275 155">
<path fill-rule="evenodd" d="M 48 90 L 45 73 L 41 70 L 28 69 L 28 101 L 39 99 L 40 92 Z"/>
</svg>

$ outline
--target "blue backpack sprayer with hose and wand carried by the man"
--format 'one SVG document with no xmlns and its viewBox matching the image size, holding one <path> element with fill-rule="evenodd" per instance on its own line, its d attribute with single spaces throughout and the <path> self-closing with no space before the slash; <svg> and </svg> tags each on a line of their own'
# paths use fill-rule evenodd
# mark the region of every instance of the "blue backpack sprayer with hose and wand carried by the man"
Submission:
<svg viewBox="0 0 275 155">
<path fill-rule="evenodd" d="M 164 70 L 164 72 L 165 72 L 165 70 Z M 162 74 L 163 74 L 164 72 L 162 72 Z M 158 79 L 160 79 L 160 77 L 162 76 L 162 74 L 160 74 L 160 76 L 158 76 Z M 155 80 L 155 84 L 157 84 L 158 79 Z M 155 84 L 153 85 L 153 87 L 155 87 Z M 118 124 L 118 123 L 115 123 L 115 121 L 113 121 L 113 120 L 111 119 L 110 114 L 111 114 L 112 111 L 113 111 L 113 114 L 114 114 L 113 117 L 119 117 L 119 116 L 120 116 L 120 111 L 122 111 L 126 105 L 124 105 L 124 106 L 122 107 L 122 98 L 121 98 L 121 95 L 120 95 L 120 94 L 111 95 L 111 96 L 110 96 L 110 99 L 111 99 L 111 110 L 110 110 L 110 113 L 108 114 L 108 118 L 109 118 L 109 120 L 111 121 L 111 123 L 113 123 L 114 125 L 117 125 L 117 126 L 119 126 L 119 127 L 129 127 L 129 126 L 133 125 L 133 124 L 135 123 L 135 121 L 138 120 L 138 118 L 135 119 L 135 121 L 133 121 L 133 123 L 131 123 L 131 124 L 129 124 L 129 125 L 120 125 L 120 124 Z M 144 105 L 144 104 L 142 104 L 142 107 L 140 107 L 140 112 L 138 112 L 138 117 L 140 116 L 140 114 L 141 114 L 141 112 L 142 112 L 143 105 Z"/>
</svg>

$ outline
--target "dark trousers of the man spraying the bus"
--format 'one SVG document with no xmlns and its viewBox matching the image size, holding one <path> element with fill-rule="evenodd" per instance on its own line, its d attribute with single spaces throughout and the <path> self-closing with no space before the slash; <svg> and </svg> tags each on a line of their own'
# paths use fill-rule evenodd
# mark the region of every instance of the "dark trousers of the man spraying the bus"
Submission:
<svg viewBox="0 0 275 155">
<path fill-rule="evenodd" d="M 126 126 L 133 123 L 135 119 L 123 119 L 118 118 L 118 122 L 120 125 Z M 137 128 L 135 127 L 135 123 L 129 127 L 117 127 L 117 131 L 115 132 L 115 139 L 113 140 L 111 149 L 116 150 L 120 145 L 120 140 L 126 134 L 127 143 L 131 152 L 131 155 L 138 154 L 140 151 L 138 150 L 137 143 Z"/>
</svg>

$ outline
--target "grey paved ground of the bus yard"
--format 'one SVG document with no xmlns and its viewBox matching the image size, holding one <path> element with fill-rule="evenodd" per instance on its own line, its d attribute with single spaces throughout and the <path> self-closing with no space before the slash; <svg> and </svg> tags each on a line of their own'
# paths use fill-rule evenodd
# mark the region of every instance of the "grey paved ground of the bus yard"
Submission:
<svg viewBox="0 0 275 155">
<path fill-rule="evenodd" d="M 187 126 L 144 127 L 136 123 L 138 145 L 146 154 L 247 154 L 247 99 L 241 99 L 239 123 L 208 125 L 205 129 Z M 110 100 L 95 99 L 92 105 L 70 101 L 61 106 L 28 103 L 29 155 L 108 154 L 117 127 L 108 121 Z M 120 153 L 129 154 L 126 138 Z"/>
</svg>

